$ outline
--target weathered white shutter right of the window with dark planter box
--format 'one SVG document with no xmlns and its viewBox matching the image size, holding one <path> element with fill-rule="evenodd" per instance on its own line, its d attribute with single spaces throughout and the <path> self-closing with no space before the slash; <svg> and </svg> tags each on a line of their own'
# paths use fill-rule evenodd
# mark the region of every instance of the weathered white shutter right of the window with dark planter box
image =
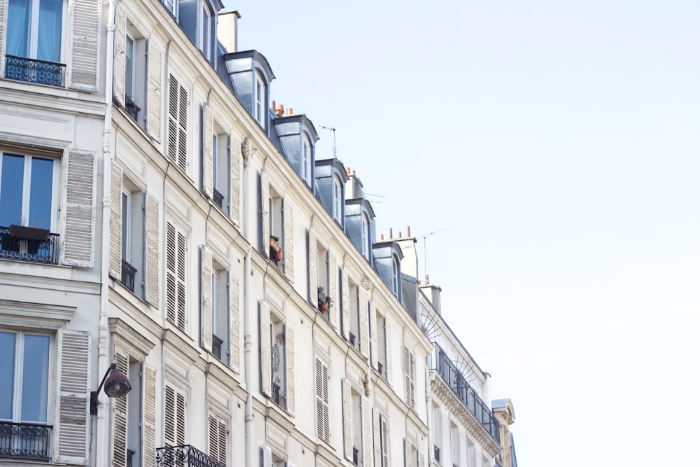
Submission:
<svg viewBox="0 0 700 467">
<path fill-rule="evenodd" d="M 62 263 L 92 267 L 94 248 L 95 157 L 69 149 L 64 156 L 64 239 Z"/>
</svg>

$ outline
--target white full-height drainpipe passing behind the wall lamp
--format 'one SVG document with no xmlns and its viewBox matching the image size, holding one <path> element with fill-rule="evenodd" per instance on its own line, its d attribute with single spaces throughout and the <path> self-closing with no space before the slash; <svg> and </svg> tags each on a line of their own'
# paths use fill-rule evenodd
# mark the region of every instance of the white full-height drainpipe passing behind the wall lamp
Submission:
<svg viewBox="0 0 700 467">
<path fill-rule="evenodd" d="M 107 370 L 107 354 L 109 351 L 109 216 L 111 186 L 111 159 L 112 159 L 112 87 L 114 75 L 114 24 L 115 24 L 115 0 L 109 0 L 107 5 L 107 47 L 105 57 L 104 74 L 104 130 L 102 132 L 102 256 L 100 267 L 101 286 L 99 293 L 99 328 L 97 337 L 97 378 L 104 375 Z M 99 394 L 98 394 L 99 397 Z M 109 438 L 108 438 L 108 413 L 106 403 L 97 405 L 97 447 L 95 452 L 95 464 L 97 466 L 109 465 Z"/>
</svg>

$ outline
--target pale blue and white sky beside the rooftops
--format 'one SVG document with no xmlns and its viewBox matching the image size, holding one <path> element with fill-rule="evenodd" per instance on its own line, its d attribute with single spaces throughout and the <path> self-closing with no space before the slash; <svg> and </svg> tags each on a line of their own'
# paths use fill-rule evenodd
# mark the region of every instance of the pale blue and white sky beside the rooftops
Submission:
<svg viewBox="0 0 700 467">
<path fill-rule="evenodd" d="M 700 1 L 224 4 L 418 237 L 519 467 L 697 462 Z"/>
</svg>

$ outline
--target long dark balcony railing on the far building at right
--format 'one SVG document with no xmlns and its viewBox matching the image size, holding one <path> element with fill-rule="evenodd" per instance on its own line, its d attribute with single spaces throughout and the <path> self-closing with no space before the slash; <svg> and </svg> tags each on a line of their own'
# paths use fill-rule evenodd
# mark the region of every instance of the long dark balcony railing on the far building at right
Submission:
<svg viewBox="0 0 700 467">
<path fill-rule="evenodd" d="M 457 395 L 459 400 L 467 407 L 477 421 L 491 435 L 491 438 L 500 443 L 500 429 L 496 416 L 488 405 L 475 393 L 472 386 L 469 385 L 462 373 L 457 370 L 456 365 L 447 357 L 447 354 L 435 344 L 435 352 L 432 357 L 432 366 L 430 370 L 436 370 L 437 374 L 442 377 L 447 386 Z"/>
</svg>

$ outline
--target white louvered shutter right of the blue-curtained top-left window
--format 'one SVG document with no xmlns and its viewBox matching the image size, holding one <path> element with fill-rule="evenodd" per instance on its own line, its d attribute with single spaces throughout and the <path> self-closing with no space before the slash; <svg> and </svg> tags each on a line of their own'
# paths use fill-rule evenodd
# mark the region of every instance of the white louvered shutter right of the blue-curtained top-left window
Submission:
<svg viewBox="0 0 700 467">
<path fill-rule="evenodd" d="M 97 91 L 99 65 L 100 16 L 102 2 L 73 0 L 70 30 L 73 33 L 69 44 L 68 87 L 81 91 Z"/>
</svg>

